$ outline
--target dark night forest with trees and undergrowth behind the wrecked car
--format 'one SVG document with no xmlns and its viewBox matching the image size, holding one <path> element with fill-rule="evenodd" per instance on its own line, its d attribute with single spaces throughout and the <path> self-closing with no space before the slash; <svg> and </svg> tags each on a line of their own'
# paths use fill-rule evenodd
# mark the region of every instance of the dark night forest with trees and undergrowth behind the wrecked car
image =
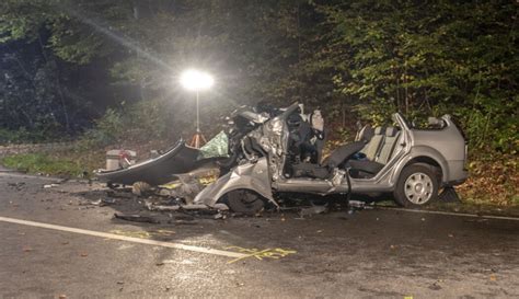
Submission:
<svg viewBox="0 0 519 299">
<path fill-rule="evenodd" d="M 508 1 L 3 0 L 0 145 L 74 140 L 3 163 L 80 174 L 108 148 L 194 133 L 186 68 L 212 73 L 201 129 L 243 104 L 323 110 L 328 147 L 360 119 L 449 113 L 469 140 L 474 203 L 519 205 L 518 8 Z M 56 163 L 61 166 L 56 166 Z M 67 166 L 62 166 L 67 165 Z"/>
</svg>

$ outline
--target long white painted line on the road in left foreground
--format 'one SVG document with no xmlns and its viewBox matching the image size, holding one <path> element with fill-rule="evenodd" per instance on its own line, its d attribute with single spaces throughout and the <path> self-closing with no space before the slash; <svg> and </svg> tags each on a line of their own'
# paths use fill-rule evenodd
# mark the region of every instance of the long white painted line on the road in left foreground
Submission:
<svg viewBox="0 0 519 299">
<path fill-rule="evenodd" d="M 153 245 L 153 246 L 163 246 L 163 248 L 170 248 L 170 249 L 178 249 L 178 250 L 186 250 L 186 251 L 193 251 L 193 252 L 199 252 L 199 253 L 221 255 L 221 256 L 233 257 L 233 258 L 241 258 L 241 257 L 246 256 L 246 254 L 244 253 L 238 253 L 238 252 L 232 252 L 232 251 L 215 250 L 215 249 L 209 249 L 209 248 L 199 248 L 199 246 L 185 245 L 185 244 L 180 244 L 180 243 L 139 239 L 139 238 L 119 235 L 115 233 L 69 228 L 69 227 L 64 227 L 64 226 L 27 221 L 27 220 L 14 219 L 14 218 L 8 218 L 8 217 L 0 217 L 0 221 L 22 225 L 22 226 L 30 226 L 30 227 L 35 227 L 35 228 L 67 231 L 67 232 L 93 235 L 93 237 L 105 238 L 105 239 L 120 240 L 120 241 L 127 241 L 127 242 L 134 242 L 134 243 L 140 243 L 140 244 L 147 244 L 147 245 Z"/>
</svg>

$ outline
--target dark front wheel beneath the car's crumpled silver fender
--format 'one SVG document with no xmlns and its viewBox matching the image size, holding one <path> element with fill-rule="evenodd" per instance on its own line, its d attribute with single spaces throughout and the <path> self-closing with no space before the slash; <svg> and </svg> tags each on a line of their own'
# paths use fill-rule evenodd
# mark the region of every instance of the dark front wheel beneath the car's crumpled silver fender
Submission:
<svg viewBox="0 0 519 299">
<path fill-rule="evenodd" d="M 264 198 L 249 189 L 235 189 L 226 195 L 223 200 L 232 211 L 254 215 L 265 207 Z"/>
</svg>

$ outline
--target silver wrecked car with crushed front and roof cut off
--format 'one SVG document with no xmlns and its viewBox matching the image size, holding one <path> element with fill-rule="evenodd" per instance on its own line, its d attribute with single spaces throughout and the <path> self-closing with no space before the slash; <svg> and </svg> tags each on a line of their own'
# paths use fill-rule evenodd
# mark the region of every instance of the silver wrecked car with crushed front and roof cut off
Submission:
<svg viewBox="0 0 519 299">
<path fill-rule="evenodd" d="M 466 145 L 451 116 L 429 117 L 432 128 L 419 129 L 400 113 L 393 125 L 364 127 L 356 141 L 321 159 L 323 119 L 319 111 L 242 108 L 231 122 L 229 158 L 222 173 L 204 188 L 195 204 L 223 203 L 255 212 L 266 204 L 279 207 L 282 193 L 315 195 L 392 194 L 405 207 L 419 207 L 438 197 L 440 188 L 468 177 Z"/>
</svg>

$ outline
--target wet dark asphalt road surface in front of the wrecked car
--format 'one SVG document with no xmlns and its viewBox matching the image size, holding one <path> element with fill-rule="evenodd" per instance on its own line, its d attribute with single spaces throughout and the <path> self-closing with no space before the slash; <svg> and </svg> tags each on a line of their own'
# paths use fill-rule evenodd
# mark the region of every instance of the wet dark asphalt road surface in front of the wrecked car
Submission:
<svg viewBox="0 0 519 299">
<path fill-rule="evenodd" d="M 55 181 L 0 173 L 0 217 L 230 252 L 296 253 L 232 262 L 0 221 L 0 297 L 519 298 L 519 221 L 364 210 L 151 225 L 113 219 L 134 199 L 84 206 L 101 194 L 95 186 L 43 188 Z"/>
</svg>

